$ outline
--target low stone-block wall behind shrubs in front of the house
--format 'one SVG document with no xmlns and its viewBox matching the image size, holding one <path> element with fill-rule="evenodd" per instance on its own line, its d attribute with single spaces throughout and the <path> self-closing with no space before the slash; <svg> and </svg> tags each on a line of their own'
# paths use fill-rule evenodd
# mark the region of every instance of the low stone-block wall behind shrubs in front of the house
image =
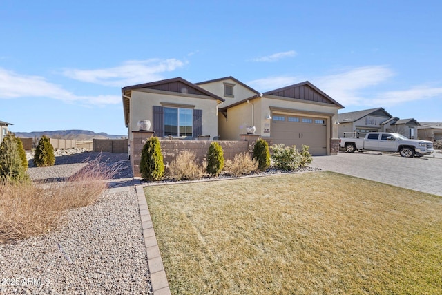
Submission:
<svg viewBox="0 0 442 295">
<path fill-rule="evenodd" d="M 146 140 L 153 136 L 153 131 L 133 131 L 132 140 L 130 142 L 131 165 L 133 175 L 140 177 L 140 160 L 141 152 Z M 231 160 L 238 153 L 252 152 L 253 142 L 260 135 L 242 135 L 241 140 L 220 140 L 217 141 L 224 151 L 224 159 Z M 163 154 L 164 164 L 170 163 L 180 151 L 185 149 L 193 151 L 198 161 L 202 162 L 206 158 L 207 151 L 212 140 L 169 140 L 160 139 L 161 151 Z"/>
</svg>

